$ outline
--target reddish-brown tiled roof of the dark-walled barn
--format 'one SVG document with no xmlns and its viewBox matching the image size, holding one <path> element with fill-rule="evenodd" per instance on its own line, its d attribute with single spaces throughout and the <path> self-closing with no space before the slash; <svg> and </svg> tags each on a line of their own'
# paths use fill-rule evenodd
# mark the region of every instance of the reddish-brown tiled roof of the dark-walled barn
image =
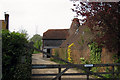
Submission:
<svg viewBox="0 0 120 80">
<path fill-rule="evenodd" d="M 66 39 L 69 29 L 49 29 L 43 33 L 44 39 Z"/>
</svg>

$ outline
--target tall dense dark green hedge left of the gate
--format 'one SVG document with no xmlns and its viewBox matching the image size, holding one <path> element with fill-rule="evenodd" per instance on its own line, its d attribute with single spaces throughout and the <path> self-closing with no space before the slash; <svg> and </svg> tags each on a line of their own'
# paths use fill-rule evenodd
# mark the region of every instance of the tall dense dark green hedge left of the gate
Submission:
<svg viewBox="0 0 120 80">
<path fill-rule="evenodd" d="M 33 51 L 27 43 L 22 33 L 2 31 L 2 80 L 30 80 Z"/>
</svg>

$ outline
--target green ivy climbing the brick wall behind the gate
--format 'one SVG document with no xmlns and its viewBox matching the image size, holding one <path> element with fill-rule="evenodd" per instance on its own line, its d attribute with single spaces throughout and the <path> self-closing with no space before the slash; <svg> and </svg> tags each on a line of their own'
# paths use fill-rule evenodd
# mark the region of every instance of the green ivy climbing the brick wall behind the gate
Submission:
<svg viewBox="0 0 120 80">
<path fill-rule="evenodd" d="M 85 58 L 81 57 L 80 61 L 82 64 L 100 64 L 101 63 L 101 52 L 102 48 L 98 46 L 96 42 L 93 42 L 88 45 L 90 48 L 90 60 L 86 60 Z M 100 68 L 93 67 L 91 71 L 97 72 Z"/>
</svg>

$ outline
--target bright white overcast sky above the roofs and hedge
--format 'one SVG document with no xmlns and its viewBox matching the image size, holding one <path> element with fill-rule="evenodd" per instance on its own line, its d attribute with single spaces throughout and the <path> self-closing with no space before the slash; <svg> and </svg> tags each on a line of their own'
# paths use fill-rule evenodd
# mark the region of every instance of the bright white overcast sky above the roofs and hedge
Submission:
<svg viewBox="0 0 120 80">
<path fill-rule="evenodd" d="M 0 0 L 0 20 L 9 14 L 9 30 L 26 30 L 29 37 L 48 29 L 68 29 L 75 13 L 70 0 Z"/>
</svg>

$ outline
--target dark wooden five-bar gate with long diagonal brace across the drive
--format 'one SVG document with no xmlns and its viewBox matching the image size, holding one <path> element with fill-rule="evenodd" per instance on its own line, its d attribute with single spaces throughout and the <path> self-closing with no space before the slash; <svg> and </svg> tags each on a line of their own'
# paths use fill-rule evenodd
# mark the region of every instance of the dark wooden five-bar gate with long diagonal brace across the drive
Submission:
<svg viewBox="0 0 120 80">
<path fill-rule="evenodd" d="M 55 78 L 53 78 L 52 80 L 56 80 L 56 79 L 59 79 L 61 80 L 61 76 L 65 76 L 65 75 L 87 75 L 87 80 L 89 80 L 89 75 L 94 75 L 94 76 L 98 76 L 100 77 L 101 79 L 99 80 L 110 80 L 110 79 L 107 79 L 106 77 L 102 76 L 101 74 L 112 74 L 112 80 L 119 80 L 119 79 L 115 79 L 115 74 L 119 75 L 120 72 L 115 72 L 115 66 L 120 66 L 120 63 L 117 63 L 117 64 L 72 64 L 68 61 L 65 61 L 59 57 L 56 57 L 56 56 L 53 56 L 49 53 L 46 53 L 40 49 L 37 49 L 31 45 L 25 45 L 26 47 L 29 47 L 31 49 L 34 49 L 36 51 L 39 51 L 43 54 L 46 54 L 54 59 L 57 59 L 59 61 L 63 61 L 64 63 L 66 63 L 66 65 L 39 65 L 39 64 L 33 64 L 32 65 L 32 69 L 45 69 L 45 68 L 58 68 L 58 74 L 33 74 L 32 76 L 56 76 Z M 90 69 L 92 67 L 109 67 L 111 66 L 112 67 L 112 71 L 111 72 L 97 72 L 97 73 L 94 73 L 92 71 L 90 71 Z M 61 71 L 61 68 L 66 68 L 64 69 L 63 71 Z M 70 68 L 77 68 L 77 69 L 81 69 L 83 71 L 85 71 L 85 73 L 65 73 L 68 69 Z M 95 79 L 97 80 L 97 79 Z"/>
</svg>

